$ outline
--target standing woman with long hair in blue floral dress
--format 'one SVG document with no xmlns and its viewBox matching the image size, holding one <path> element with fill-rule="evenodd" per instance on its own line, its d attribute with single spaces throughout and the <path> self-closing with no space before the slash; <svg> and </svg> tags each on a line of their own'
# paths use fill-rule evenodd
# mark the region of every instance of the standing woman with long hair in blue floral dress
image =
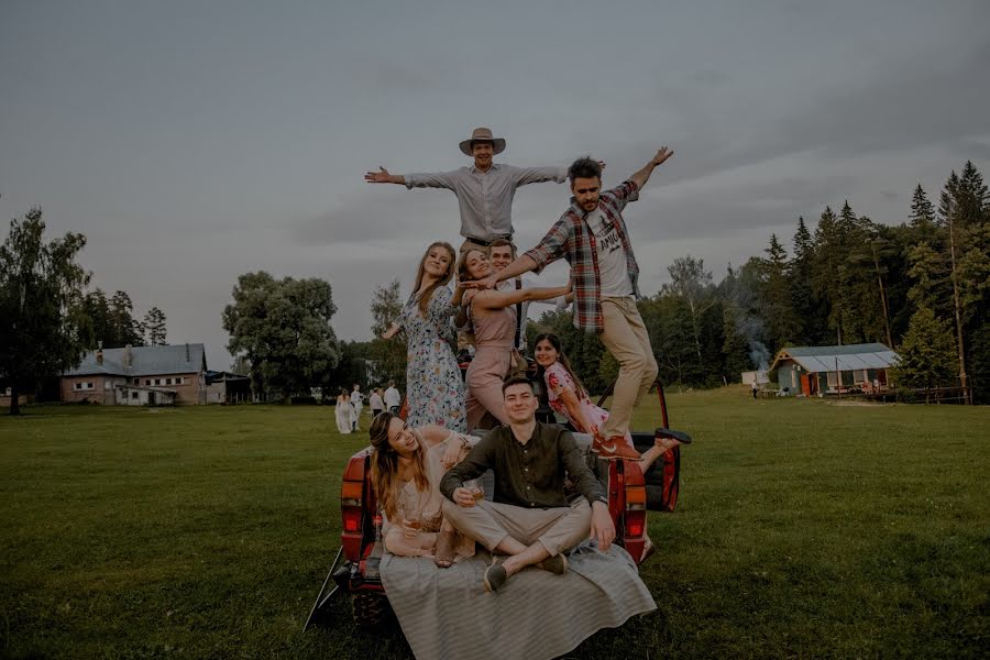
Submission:
<svg viewBox="0 0 990 660">
<path fill-rule="evenodd" d="M 399 330 L 406 331 L 409 426 L 437 425 L 462 433 L 468 430 L 464 382 L 450 348 L 450 317 L 458 311 L 463 289 L 458 287 L 457 294 L 451 294 L 447 287 L 453 270 L 454 251 L 450 243 L 438 241 L 427 248 L 399 321 L 382 337 L 392 339 Z"/>
</svg>

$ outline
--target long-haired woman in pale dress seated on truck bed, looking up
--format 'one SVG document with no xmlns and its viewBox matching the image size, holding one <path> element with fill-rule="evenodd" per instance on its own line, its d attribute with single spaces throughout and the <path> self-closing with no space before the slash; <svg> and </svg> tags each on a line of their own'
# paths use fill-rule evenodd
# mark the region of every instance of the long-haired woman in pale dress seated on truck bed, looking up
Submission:
<svg viewBox="0 0 990 660">
<path fill-rule="evenodd" d="M 413 428 L 392 413 L 372 421 L 372 484 L 383 512 L 385 549 L 399 557 L 433 557 L 440 568 L 474 554 L 440 512 L 440 479 L 477 438 L 438 426 Z"/>
</svg>

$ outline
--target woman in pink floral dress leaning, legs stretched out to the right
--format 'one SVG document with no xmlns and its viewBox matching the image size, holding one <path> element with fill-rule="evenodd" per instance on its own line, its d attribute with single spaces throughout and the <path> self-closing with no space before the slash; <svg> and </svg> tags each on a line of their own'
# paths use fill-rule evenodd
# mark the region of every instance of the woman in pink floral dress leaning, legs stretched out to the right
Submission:
<svg viewBox="0 0 990 660">
<path fill-rule="evenodd" d="M 547 397 L 550 407 L 568 418 L 571 426 L 581 433 L 590 433 L 603 441 L 602 427 L 608 419 L 608 411 L 591 403 L 587 391 L 571 369 L 566 355 L 560 345 L 560 338 L 552 332 L 540 334 L 536 339 L 535 358 L 543 374 L 547 385 Z M 641 457 L 632 447 L 632 437 L 626 432 L 626 446 L 618 448 L 617 458 L 638 459 L 639 468 L 644 473 L 653 462 L 663 455 L 668 449 L 681 444 L 673 438 L 657 438 L 651 447 Z"/>
</svg>

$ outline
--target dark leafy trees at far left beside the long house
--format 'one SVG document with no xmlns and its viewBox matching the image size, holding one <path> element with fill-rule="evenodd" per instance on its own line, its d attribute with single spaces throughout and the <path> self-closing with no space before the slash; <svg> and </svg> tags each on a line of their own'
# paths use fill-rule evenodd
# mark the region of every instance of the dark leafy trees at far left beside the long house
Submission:
<svg viewBox="0 0 990 660">
<path fill-rule="evenodd" d="M 167 332 L 157 307 L 139 321 L 125 292 L 108 298 L 88 290 L 92 274 L 77 262 L 86 237 L 67 232 L 46 241 L 44 233 L 35 207 L 11 220 L 0 245 L 0 392 L 10 389 L 12 415 L 21 394 L 77 366 L 87 351 L 164 344 Z"/>
</svg>

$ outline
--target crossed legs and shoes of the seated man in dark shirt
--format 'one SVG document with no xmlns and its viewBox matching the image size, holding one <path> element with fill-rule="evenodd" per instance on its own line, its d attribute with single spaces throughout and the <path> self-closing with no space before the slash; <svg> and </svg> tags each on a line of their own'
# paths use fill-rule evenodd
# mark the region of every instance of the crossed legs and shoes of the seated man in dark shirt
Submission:
<svg viewBox="0 0 990 660">
<path fill-rule="evenodd" d="M 509 556 L 501 564 L 505 571 L 502 582 L 534 564 L 542 563 L 541 568 L 563 573 L 566 560 L 562 553 L 588 538 L 592 517 L 591 506 L 583 497 L 569 507 L 549 509 L 488 501 L 463 507 L 444 499 L 443 516 L 493 554 Z"/>
</svg>

